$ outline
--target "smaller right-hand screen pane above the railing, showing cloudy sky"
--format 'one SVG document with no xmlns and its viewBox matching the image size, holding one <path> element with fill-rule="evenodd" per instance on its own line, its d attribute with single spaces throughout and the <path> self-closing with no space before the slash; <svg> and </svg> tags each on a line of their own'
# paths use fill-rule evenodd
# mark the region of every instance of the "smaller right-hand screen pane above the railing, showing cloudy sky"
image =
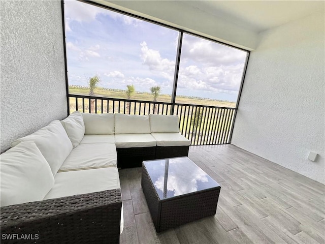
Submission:
<svg viewBox="0 0 325 244">
<path fill-rule="evenodd" d="M 236 107 L 246 55 L 245 51 L 184 34 L 176 102 Z"/>
</svg>

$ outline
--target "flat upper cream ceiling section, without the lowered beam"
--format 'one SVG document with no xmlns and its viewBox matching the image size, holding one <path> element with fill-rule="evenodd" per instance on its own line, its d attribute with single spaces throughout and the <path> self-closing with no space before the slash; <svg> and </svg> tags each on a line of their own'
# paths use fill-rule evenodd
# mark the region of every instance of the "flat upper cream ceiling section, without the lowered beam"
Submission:
<svg viewBox="0 0 325 244">
<path fill-rule="evenodd" d="M 180 4 L 255 32 L 324 11 L 324 1 L 180 1 Z"/>
</svg>

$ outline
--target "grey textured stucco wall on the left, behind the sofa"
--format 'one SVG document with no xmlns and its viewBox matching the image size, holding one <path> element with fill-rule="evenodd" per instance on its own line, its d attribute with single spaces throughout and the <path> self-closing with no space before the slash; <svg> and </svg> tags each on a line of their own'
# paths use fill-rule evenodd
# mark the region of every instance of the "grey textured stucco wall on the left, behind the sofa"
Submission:
<svg viewBox="0 0 325 244">
<path fill-rule="evenodd" d="M 59 1 L 0 1 L 1 151 L 67 116 Z"/>
</svg>

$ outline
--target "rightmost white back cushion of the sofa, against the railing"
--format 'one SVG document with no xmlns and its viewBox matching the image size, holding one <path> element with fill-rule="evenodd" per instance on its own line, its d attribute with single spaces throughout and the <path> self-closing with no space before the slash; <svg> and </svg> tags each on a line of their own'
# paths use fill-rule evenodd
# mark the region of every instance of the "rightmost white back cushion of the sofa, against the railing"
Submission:
<svg viewBox="0 0 325 244">
<path fill-rule="evenodd" d="M 149 114 L 151 133 L 179 132 L 178 115 Z"/>
</svg>

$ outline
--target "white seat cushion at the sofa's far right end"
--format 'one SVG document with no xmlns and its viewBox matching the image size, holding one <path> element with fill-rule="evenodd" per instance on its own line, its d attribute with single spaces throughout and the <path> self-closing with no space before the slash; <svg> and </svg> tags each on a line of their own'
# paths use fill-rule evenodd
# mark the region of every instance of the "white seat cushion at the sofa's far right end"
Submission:
<svg viewBox="0 0 325 244">
<path fill-rule="evenodd" d="M 190 140 L 180 133 L 151 133 L 157 141 L 157 146 L 189 146 Z"/>
</svg>

